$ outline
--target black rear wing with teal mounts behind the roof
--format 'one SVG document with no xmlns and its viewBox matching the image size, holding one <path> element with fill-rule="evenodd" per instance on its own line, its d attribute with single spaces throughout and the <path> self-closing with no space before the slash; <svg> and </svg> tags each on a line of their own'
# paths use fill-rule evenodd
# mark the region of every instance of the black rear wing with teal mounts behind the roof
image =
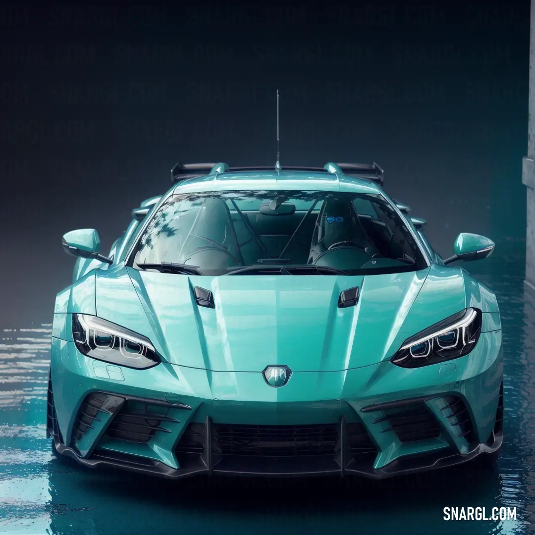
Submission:
<svg viewBox="0 0 535 535">
<path fill-rule="evenodd" d="M 380 186 L 383 186 L 384 171 L 381 167 L 373 162 L 372 164 L 335 164 L 339 167 L 342 173 L 349 176 L 363 177 L 377 182 Z M 261 166 L 250 165 L 243 167 L 228 167 L 225 163 L 198 163 L 198 164 L 182 164 L 178 162 L 171 169 L 171 182 L 176 184 L 182 182 L 188 178 L 204 177 L 205 175 L 220 172 L 232 172 L 232 171 L 274 171 L 273 166 Z M 325 167 L 311 167 L 300 165 L 283 165 L 281 171 L 311 171 L 325 173 Z"/>
</svg>

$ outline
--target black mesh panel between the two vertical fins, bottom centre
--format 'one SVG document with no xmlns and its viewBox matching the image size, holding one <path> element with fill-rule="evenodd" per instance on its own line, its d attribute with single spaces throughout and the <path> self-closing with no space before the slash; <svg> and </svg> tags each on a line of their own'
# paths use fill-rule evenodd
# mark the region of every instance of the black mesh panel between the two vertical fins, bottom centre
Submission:
<svg viewBox="0 0 535 535">
<path fill-rule="evenodd" d="M 339 430 L 339 424 L 215 424 L 221 454 L 241 456 L 334 455 Z"/>
</svg>

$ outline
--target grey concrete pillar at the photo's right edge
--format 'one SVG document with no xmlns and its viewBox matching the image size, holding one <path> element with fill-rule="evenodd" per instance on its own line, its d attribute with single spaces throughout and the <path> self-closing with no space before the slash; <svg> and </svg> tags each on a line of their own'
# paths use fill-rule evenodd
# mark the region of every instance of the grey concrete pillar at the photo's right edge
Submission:
<svg viewBox="0 0 535 535">
<path fill-rule="evenodd" d="M 526 292 L 535 297 L 535 0 L 531 0 L 530 97 L 528 156 L 522 162 L 522 182 L 527 189 L 526 211 Z"/>
</svg>

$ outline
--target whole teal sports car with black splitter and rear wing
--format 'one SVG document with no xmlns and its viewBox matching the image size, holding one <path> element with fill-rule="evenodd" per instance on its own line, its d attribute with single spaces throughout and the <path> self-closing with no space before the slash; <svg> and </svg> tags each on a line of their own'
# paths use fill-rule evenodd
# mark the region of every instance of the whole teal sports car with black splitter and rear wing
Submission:
<svg viewBox="0 0 535 535">
<path fill-rule="evenodd" d="M 67 232 L 47 434 L 86 467 L 385 478 L 494 461 L 493 292 L 441 258 L 377 164 L 177 164 L 109 254 Z"/>
</svg>

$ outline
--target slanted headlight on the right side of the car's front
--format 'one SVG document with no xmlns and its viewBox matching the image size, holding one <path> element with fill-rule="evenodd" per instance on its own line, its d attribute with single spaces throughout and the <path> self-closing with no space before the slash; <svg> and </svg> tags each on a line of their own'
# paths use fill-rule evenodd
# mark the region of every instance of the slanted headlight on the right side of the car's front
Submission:
<svg viewBox="0 0 535 535">
<path fill-rule="evenodd" d="M 481 325 L 481 311 L 467 308 L 407 338 L 392 363 L 419 368 L 463 357 L 476 347 Z"/>
</svg>

